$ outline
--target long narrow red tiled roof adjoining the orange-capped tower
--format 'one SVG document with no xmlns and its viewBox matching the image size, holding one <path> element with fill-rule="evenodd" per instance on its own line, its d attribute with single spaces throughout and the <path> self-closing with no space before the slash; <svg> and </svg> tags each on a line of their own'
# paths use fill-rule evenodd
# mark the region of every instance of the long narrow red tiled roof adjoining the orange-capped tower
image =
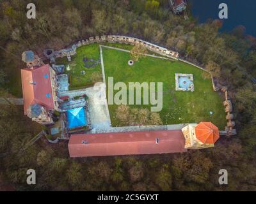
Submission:
<svg viewBox="0 0 256 204">
<path fill-rule="evenodd" d="M 184 146 L 181 130 L 80 134 L 68 142 L 70 157 L 185 152 Z"/>
</svg>

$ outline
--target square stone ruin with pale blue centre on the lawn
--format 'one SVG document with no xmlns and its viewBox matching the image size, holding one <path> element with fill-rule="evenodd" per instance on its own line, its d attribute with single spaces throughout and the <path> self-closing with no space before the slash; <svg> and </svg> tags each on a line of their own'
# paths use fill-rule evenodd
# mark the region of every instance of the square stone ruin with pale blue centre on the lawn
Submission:
<svg viewBox="0 0 256 204">
<path fill-rule="evenodd" d="M 175 73 L 176 91 L 194 91 L 194 77 L 192 74 Z"/>
</svg>

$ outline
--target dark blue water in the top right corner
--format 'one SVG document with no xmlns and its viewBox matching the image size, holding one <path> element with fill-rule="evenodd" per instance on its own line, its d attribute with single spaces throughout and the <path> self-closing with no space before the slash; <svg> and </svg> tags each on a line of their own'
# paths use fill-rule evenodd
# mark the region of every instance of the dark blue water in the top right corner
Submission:
<svg viewBox="0 0 256 204">
<path fill-rule="evenodd" d="M 256 0 L 187 0 L 192 4 L 193 16 L 203 23 L 208 18 L 220 19 L 219 4 L 228 6 L 228 19 L 223 20 L 221 31 L 231 31 L 237 25 L 246 27 L 246 34 L 256 36 Z"/>
</svg>

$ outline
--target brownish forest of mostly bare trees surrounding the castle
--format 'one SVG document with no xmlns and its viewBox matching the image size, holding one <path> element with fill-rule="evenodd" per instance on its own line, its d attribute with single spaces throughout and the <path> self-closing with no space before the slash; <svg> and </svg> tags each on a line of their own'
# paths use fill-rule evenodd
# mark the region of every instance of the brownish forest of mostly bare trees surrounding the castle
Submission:
<svg viewBox="0 0 256 204">
<path fill-rule="evenodd" d="M 0 187 L 15 191 L 255 191 L 256 38 L 243 26 L 220 33 L 221 22 L 173 15 L 168 0 L 34 0 L 36 18 L 26 17 L 27 0 L 0 2 L 0 97 L 21 98 L 24 50 L 42 55 L 101 34 L 141 38 L 204 66 L 228 87 L 236 136 L 221 136 L 214 148 L 183 154 L 68 157 L 67 142 L 28 142 L 42 127 L 22 106 L 0 105 Z M 26 171 L 36 170 L 36 185 Z M 220 169 L 228 185 L 218 183 Z"/>
</svg>

